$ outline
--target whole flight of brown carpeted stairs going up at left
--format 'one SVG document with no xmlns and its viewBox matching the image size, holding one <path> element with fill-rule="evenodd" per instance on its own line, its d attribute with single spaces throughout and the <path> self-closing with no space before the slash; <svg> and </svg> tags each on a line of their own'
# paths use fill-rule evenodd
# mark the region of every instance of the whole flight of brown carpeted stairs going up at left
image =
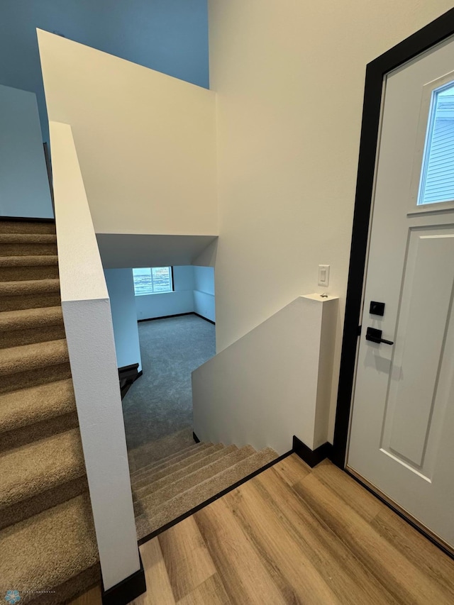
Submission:
<svg viewBox="0 0 454 605">
<path fill-rule="evenodd" d="M 0 597 L 60 604 L 100 577 L 55 225 L 0 221 Z"/>
</svg>

